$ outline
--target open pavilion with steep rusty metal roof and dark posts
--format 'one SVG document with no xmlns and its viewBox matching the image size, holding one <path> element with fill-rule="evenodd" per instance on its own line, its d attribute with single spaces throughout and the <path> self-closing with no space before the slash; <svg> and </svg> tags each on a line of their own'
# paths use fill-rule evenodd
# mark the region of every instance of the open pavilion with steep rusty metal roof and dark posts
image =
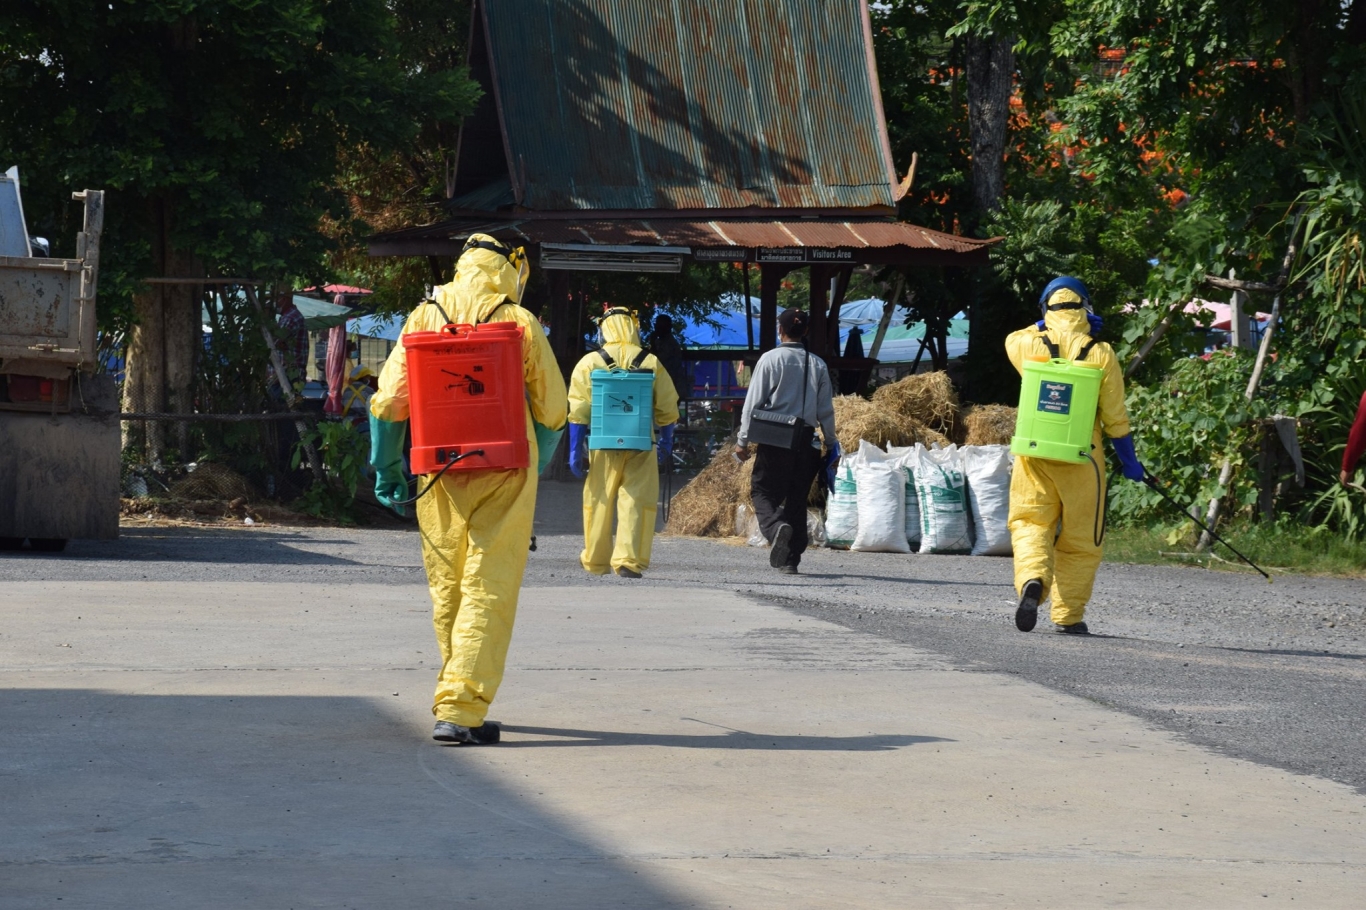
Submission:
<svg viewBox="0 0 1366 910">
<path fill-rule="evenodd" d="M 866 0 L 475 0 L 469 60 L 485 94 L 449 220 L 372 236 L 370 256 L 526 243 L 552 342 L 575 269 L 757 262 L 768 350 L 780 281 L 809 268 L 810 348 L 832 359 L 855 266 L 986 264 L 989 240 L 896 220 L 914 165 L 897 178 Z"/>
</svg>

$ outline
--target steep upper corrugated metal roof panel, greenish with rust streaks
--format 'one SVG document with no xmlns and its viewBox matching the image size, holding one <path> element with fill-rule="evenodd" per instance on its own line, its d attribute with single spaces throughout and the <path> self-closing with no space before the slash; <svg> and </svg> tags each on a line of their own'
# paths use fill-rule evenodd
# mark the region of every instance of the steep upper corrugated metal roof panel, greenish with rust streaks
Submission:
<svg viewBox="0 0 1366 910">
<path fill-rule="evenodd" d="M 523 206 L 895 204 L 865 0 L 481 7 Z"/>
</svg>

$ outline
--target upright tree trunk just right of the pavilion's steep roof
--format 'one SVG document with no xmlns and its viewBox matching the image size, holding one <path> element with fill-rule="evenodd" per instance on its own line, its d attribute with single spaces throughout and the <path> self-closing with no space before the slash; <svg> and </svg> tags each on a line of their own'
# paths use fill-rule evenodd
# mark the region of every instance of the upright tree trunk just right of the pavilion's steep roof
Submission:
<svg viewBox="0 0 1366 910">
<path fill-rule="evenodd" d="M 967 126 L 973 145 L 973 202 L 981 215 L 1005 193 L 1005 131 L 1015 74 L 1014 36 L 968 36 Z"/>
</svg>

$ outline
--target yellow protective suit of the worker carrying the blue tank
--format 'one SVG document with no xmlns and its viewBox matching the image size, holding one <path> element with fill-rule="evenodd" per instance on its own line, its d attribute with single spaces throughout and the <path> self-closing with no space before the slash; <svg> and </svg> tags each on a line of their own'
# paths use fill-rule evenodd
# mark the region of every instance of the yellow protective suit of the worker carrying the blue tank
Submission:
<svg viewBox="0 0 1366 910">
<path fill-rule="evenodd" d="M 641 353 L 641 325 L 634 316 L 615 313 L 602 320 L 602 347 L 623 366 Z M 570 422 L 590 424 L 593 415 L 593 370 L 605 370 L 598 353 L 586 354 L 570 377 Z M 650 354 L 641 363 L 654 372 L 654 425 L 668 426 L 679 418 L 679 394 L 664 365 Z M 583 552 L 579 564 L 594 575 L 650 567 L 654 542 L 654 515 L 658 511 L 660 469 L 654 450 L 627 451 L 597 448 L 589 452 L 589 475 L 583 482 Z M 616 545 L 612 521 L 616 519 Z"/>
</svg>

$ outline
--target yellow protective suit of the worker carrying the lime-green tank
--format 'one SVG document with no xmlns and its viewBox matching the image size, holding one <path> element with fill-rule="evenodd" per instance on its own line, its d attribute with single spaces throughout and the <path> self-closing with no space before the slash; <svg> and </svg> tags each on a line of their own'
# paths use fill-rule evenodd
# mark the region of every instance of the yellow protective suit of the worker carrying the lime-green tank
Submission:
<svg viewBox="0 0 1366 910">
<path fill-rule="evenodd" d="M 1068 290 L 1056 291 L 1049 303 L 1078 302 Z M 1048 337 L 1057 344 L 1059 355 L 1075 359 L 1090 340 L 1090 325 L 1082 309 L 1049 312 L 1044 317 Z M 1012 332 L 1005 339 L 1005 353 L 1016 370 L 1029 357 L 1048 357 L 1042 333 L 1035 328 Z M 1050 618 L 1059 626 L 1082 622 L 1091 598 L 1091 585 L 1101 563 L 1097 508 L 1105 501 L 1105 452 L 1101 437 L 1128 436 L 1128 411 L 1124 410 L 1124 372 L 1115 351 L 1097 342 L 1086 355 L 1087 363 L 1100 363 L 1101 380 L 1096 432 L 1091 436 L 1089 463 L 1070 465 L 1044 458 L 1015 458 L 1011 474 L 1011 545 L 1015 549 L 1015 592 L 1023 593 L 1024 582 L 1038 578 L 1052 598 Z M 1056 540 L 1055 540 L 1056 537 Z"/>
</svg>

